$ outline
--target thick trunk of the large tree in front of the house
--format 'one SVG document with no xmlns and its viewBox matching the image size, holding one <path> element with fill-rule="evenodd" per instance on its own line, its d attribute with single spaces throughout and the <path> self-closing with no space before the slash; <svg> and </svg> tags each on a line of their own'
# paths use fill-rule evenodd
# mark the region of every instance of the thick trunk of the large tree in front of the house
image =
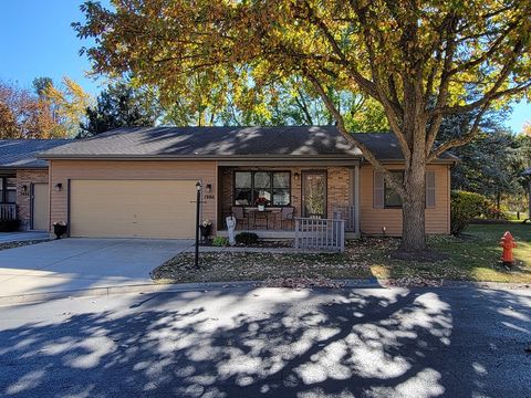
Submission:
<svg viewBox="0 0 531 398">
<path fill-rule="evenodd" d="M 403 198 L 402 245 L 404 252 L 426 250 L 426 164 L 424 159 L 413 159 L 405 170 Z"/>
</svg>

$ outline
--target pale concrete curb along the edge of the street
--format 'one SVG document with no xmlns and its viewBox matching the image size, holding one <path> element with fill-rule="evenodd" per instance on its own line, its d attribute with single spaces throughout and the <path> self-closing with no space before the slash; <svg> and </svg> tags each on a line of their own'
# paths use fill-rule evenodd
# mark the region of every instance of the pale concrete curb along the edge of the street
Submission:
<svg viewBox="0 0 531 398">
<path fill-rule="evenodd" d="M 531 289 L 529 283 L 502 283 L 502 282 L 454 282 L 442 281 L 438 286 L 399 286 L 393 285 L 393 280 L 377 280 L 376 277 L 368 279 L 352 279 L 352 280 L 334 280 L 334 282 L 342 283 L 340 289 L 460 289 L 460 287 L 477 287 L 477 289 Z M 95 297 L 95 296 L 111 296 L 116 294 L 127 293 L 179 293 L 208 290 L 240 290 L 259 287 L 263 281 L 244 281 L 244 282 L 196 282 L 196 283 L 144 283 L 135 285 L 123 286 L 106 286 L 106 287 L 91 287 L 64 292 L 49 292 L 49 293 L 31 293 L 19 294 L 13 296 L 0 296 L 0 307 L 14 304 L 38 304 L 52 300 L 64 300 L 74 297 Z M 321 287 L 312 287 L 321 289 Z M 329 287 L 322 287 L 329 289 Z"/>
</svg>

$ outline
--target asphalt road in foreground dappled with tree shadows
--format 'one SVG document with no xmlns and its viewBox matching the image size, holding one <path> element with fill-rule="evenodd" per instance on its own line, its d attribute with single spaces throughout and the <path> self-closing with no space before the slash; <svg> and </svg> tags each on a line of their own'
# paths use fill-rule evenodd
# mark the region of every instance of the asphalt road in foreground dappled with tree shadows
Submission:
<svg viewBox="0 0 531 398">
<path fill-rule="evenodd" d="M 531 397 L 531 291 L 278 289 L 0 307 L 2 397 Z"/>
</svg>

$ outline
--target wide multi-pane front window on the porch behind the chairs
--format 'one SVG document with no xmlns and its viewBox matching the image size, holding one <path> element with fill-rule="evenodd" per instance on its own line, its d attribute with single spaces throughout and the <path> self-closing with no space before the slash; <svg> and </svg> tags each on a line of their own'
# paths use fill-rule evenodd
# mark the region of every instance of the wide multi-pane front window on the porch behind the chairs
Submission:
<svg viewBox="0 0 531 398">
<path fill-rule="evenodd" d="M 236 171 L 235 205 L 254 206 L 258 198 L 266 198 L 271 206 L 289 206 L 290 180 L 289 171 Z"/>
</svg>

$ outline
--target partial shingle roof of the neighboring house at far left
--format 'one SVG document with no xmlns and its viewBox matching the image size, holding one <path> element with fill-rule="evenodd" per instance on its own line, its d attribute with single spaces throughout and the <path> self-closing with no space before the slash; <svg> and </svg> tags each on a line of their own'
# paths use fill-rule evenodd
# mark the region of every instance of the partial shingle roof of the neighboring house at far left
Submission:
<svg viewBox="0 0 531 398">
<path fill-rule="evenodd" d="M 0 139 L 0 168 L 45 168 L 37 154 L 69 144 L 72 139 Z"/>
</svg>

